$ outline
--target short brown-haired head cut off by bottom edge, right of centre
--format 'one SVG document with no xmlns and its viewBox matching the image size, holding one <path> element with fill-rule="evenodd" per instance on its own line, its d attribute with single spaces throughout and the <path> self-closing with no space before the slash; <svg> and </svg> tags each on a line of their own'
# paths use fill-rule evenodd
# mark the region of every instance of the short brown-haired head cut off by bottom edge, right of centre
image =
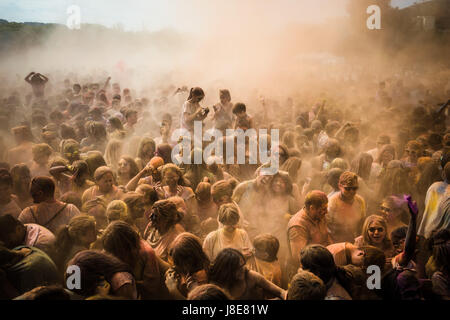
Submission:
<svg viewBox="0 0 450 320">
<path fill-rule="evenodd" d="M 291 280 L 287 300 L 324 300 L 327 288 L 314 273 L 300 270 Z"/>
</svg>

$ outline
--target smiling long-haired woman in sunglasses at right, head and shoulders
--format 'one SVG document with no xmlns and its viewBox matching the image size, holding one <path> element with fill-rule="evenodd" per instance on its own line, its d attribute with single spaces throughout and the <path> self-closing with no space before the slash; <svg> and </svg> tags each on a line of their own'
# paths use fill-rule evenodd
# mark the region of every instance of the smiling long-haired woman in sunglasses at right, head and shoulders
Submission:
<svg viewBox="0 0 450 320">
<path fill-rule="evenodd" d="M 386 220 L 374 214 L 368 216 L 364 221 L 361 235 L 355 239 L 355 245 L 358 247 L 374 246 L 383 250 L 386 258 L 392 258 L 395 254 Z"/>
</svg>

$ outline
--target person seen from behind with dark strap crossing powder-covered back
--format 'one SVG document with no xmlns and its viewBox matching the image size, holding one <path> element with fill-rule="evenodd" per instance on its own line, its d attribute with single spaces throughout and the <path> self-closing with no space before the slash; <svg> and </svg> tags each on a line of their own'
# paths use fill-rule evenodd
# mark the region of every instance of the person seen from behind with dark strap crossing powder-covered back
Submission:
<svg viewBox="0 0 450 320">
<path fill-rule="evenodd" d="M 30 193 L 35 205 L 22 210 L 19 220 L 22 223 L 36 223 L 53 233 L 80 214 L 73 204 L 55 199 L 55 183 L 49 177 L 36 177 L 31 180 Z"/>
</svg>

